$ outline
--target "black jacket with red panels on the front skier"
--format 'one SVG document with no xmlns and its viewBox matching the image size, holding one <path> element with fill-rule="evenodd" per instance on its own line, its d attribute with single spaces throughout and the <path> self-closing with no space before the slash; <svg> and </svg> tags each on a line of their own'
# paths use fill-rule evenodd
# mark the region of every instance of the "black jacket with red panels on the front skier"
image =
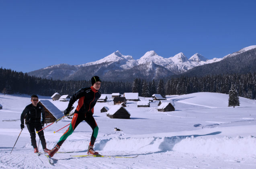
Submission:
<svg viewBox="0 0 256 169">
<path fill-rule="evenodd" d="M 93 87 L 85 87 L 77 91 L 70 99 L 68 104 L 68 109 L 71 110 L 72 105 L 75 101 L 78 101 L 78 106 L 76 107 L 75 113 L 92 113 L 94 111 L 94 105 L 97 100 L 100 98 L 101 93 L 94 89 Z"/>
</svg>

